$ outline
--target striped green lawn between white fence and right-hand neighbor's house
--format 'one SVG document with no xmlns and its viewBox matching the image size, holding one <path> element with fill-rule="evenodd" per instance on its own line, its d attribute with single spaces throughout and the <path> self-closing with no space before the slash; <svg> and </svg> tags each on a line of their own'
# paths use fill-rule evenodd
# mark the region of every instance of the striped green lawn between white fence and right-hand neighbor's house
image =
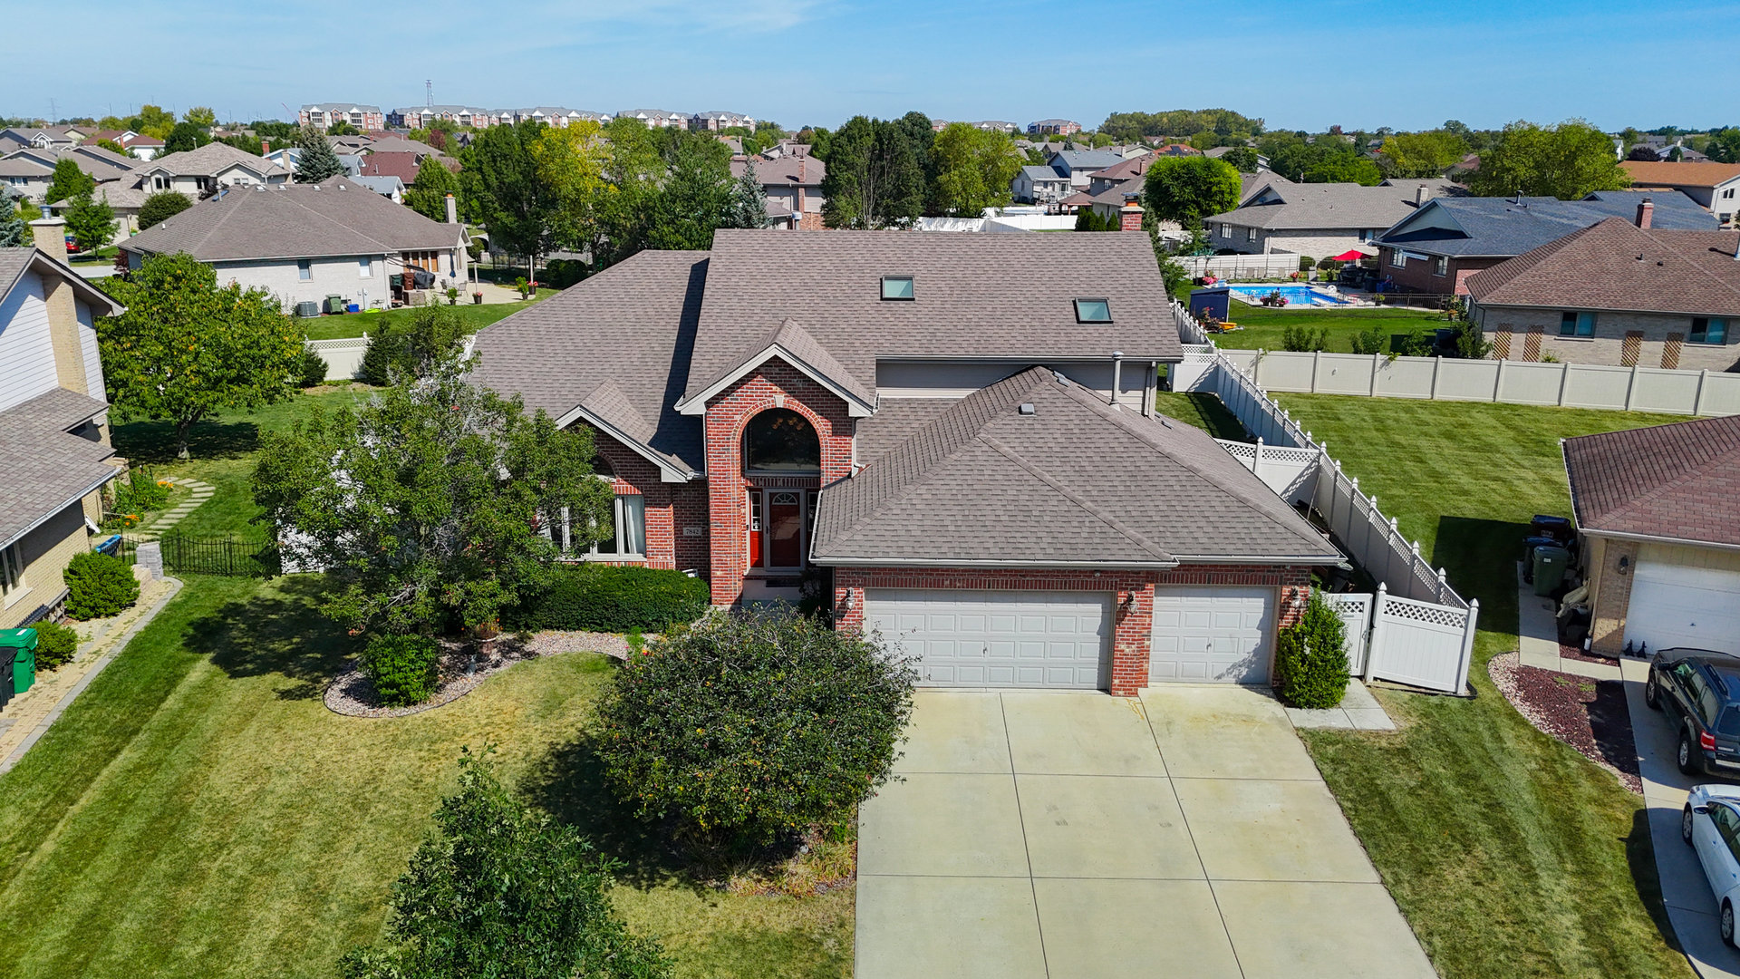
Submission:
<svg viewBox="0 0 1740 979">
<path fill-rule="evenodd" d="M 1641 800 L 1528 725 L 1486 678 L 1516 650 L 1514 561 L 1569 514 L 1557 439 L 1674 418 L 1281 395 L 1434 566 L 1481 601 L 1477 697 L 1380 692 L 1404 732 L 1302 732 L 1439 974 L 1691 976 L 1663 939 Z"/>
</svg>

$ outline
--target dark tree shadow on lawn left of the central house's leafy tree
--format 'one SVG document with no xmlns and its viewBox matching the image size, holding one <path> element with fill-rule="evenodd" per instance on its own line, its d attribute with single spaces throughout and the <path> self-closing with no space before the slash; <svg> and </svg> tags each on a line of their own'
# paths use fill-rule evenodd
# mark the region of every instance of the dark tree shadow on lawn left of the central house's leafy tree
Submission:
<svg viewBox="0 0 1740 979">
<path fill-rule="evenodd" d="M 277 578 L 271 591 L 231 601 L 190 627 L 188 648 L 231 678 L 280 674 L 280 700 L 311 700 L 345 671 L 355 641 L 320 611 L 320 575 Z"/>
</svg>

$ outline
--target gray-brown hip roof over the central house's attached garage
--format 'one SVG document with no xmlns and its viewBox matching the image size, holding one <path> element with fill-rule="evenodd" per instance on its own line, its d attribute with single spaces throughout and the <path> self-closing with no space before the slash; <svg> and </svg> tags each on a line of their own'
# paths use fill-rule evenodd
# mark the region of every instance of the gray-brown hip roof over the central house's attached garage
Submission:
<svg viewBox="0 0 1740 979">
<path fill-rule="evenodd" d="M 954 402 L 826 488 L 811 556 L 1152 568 L 1342 561 L 1206 432 L 1112 409 L 1044 368 Z"/>
</svg>

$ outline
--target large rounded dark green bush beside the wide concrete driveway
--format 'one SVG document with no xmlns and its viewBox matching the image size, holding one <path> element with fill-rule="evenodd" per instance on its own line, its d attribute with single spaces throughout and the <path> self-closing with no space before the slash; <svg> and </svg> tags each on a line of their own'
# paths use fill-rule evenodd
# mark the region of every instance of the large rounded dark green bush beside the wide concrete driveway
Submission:
<svg viewBox="0 0 1740 979">
<path fill-rule="evenodd" d="M 715 615 L 632 655 L 600 756 L 642 819 L 767 843 L 844 819 L 894 763 L 917 672 L 854 632 L 783 611 Z"/>
</svg>

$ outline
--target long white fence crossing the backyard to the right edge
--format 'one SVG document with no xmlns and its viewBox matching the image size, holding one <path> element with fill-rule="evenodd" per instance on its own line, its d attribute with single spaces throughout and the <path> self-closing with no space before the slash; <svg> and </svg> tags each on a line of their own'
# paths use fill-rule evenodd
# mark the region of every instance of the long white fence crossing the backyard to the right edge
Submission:
<svg viewBox="0 0 1740 979">
<path fill-rule="evenodd" d="M 1208 343 L 1208 336 L 1195 340 Z M 1740 415 L 1740 375 L 1387 354 L 1220 350 L 1262 390 L 1495 401 L 1663 415 Z"/>
</svg>

